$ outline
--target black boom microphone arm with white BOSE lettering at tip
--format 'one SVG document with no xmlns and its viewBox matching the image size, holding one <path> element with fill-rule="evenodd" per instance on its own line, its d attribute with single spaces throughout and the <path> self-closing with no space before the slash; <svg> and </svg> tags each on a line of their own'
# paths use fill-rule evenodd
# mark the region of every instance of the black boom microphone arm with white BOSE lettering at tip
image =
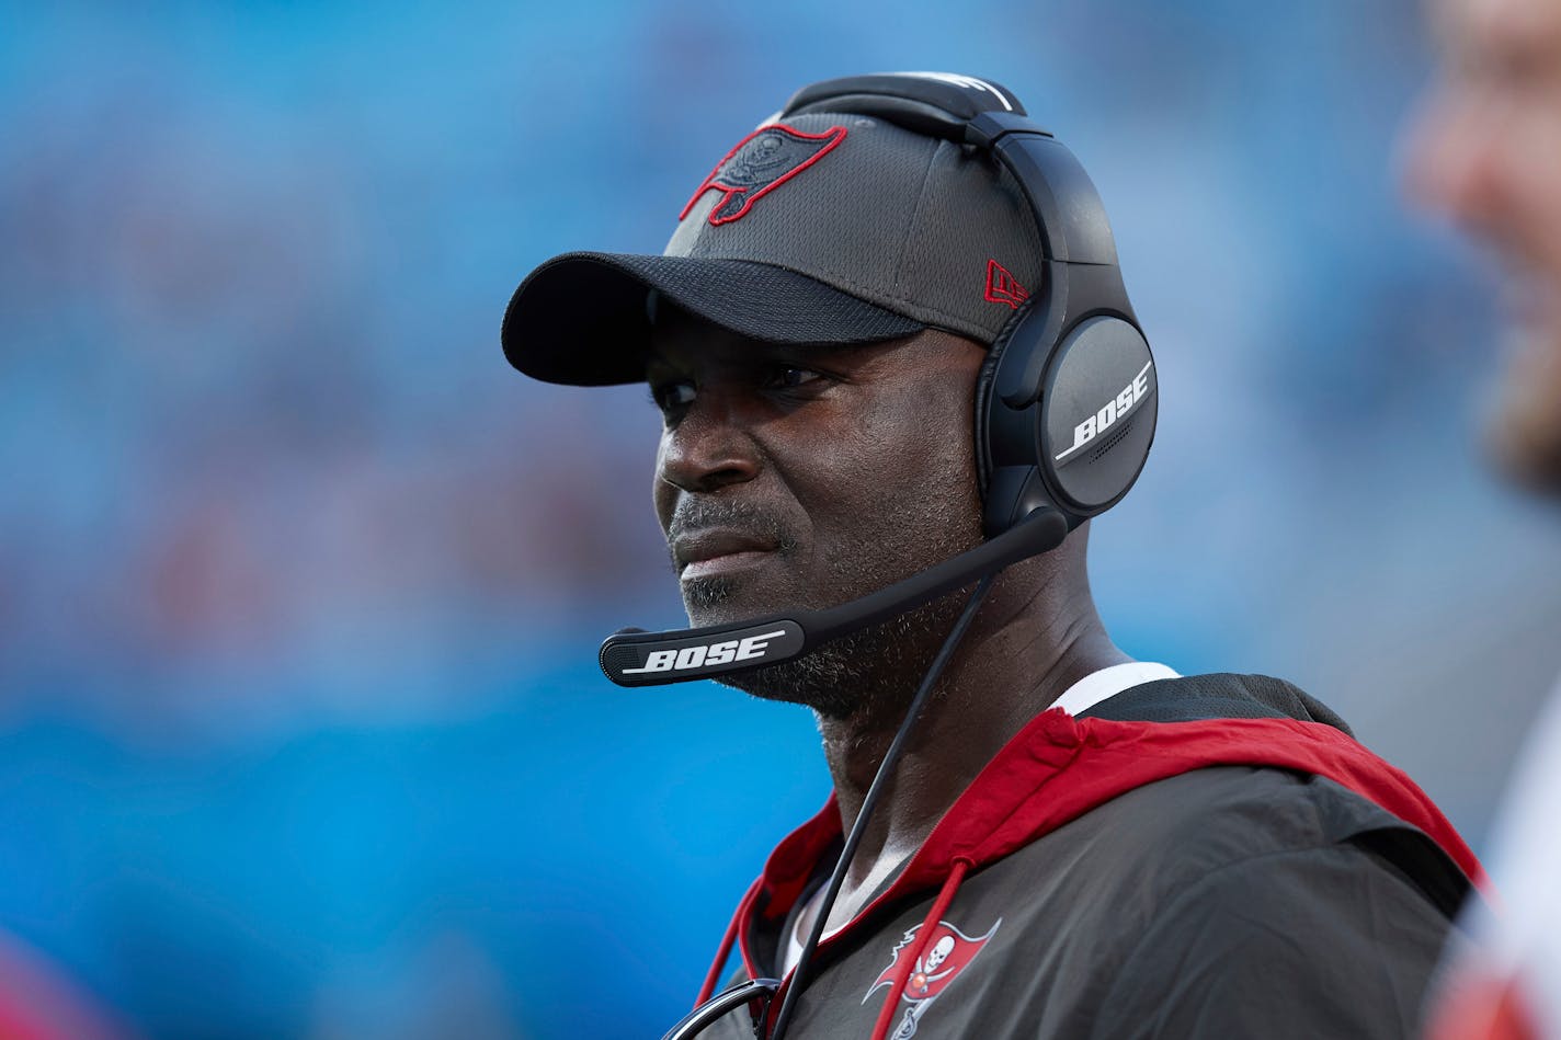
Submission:
<svg viewBox="0 0 1561 1040">
<path fill-rule="evenodd" d="M 1068 518 L 1061 512 L 1035 509 L 997 537 L 860 600 L 709 628 L 668 632 L 626 628 L 603 642 L 598 659 L 618 686 L 663 686 L 763 668 L 1047 553 L 1065 537 Z"/>
</svg>

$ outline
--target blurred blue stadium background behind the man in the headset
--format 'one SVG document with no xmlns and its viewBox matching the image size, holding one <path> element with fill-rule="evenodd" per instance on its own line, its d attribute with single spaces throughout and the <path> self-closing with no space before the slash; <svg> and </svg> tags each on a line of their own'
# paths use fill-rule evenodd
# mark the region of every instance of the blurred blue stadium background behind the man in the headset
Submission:
<svg viewBox="0 0 1561 1040">
<path fill-rule="evenodd" d="M 1478 843 L 1561 539 L 1397 201 L 1428 62 L 1408 0 L 0 3 L 0 928 L 147 1037 L 659 1035 L 826 778 L 805 712 L 599 676 L 682 620 L 657 417 L 498 322 L 885 69 L 1013 87 L 1113 214 L 1165 387 L 1118 642 L 1300 682 Z"/>
</svg>

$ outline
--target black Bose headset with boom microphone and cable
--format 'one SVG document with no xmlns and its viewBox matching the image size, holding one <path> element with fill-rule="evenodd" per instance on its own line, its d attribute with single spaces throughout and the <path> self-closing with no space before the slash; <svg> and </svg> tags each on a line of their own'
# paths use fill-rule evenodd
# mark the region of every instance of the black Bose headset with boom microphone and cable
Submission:
<svg viewBox="0 0 1561 1040">
<path fill-rule="evenodd" d="M 1127 301 L 1094 184 L 1068 148 L 1029 120 L 1012 92 L 944 73 L 848 77 L 798 91 L 779 119 L 799 112 L 871 116 L 991 156 L 1013 173 L 1035 214 L 1044 273 L 993 342 L 976 384 L 987 542 L 837 607 L 668 632 L 623 629 L 601 646 L 603 671 L 620 686 L 706 679 L 799 656 L 977 582 L 868 789 L 774 1017 L 771 1040 L 785 1032 L 884 781 L 993 579 L 1004 567 L 1055 548 L 1080 523 L 1115 506 L 1149 458 L 1158 414 L 1154 358 Z M 693 1037 L 732 1009 L 773 996 L 779 985 L 776 979 L 738 984 L 695 1009 L 665 1040 Z M 768 1010 L 766 1003 L 759 1013 L 760 1035 Z"/>
</svg>

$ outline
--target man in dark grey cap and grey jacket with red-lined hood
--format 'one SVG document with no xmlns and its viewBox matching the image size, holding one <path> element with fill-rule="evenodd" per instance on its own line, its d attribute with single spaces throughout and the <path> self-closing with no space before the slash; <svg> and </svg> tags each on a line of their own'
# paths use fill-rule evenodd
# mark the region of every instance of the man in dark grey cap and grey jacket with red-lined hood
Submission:
<svg viewBox="0 0 1561 1040">
<path fill-rule="evenodd" d="M 841 83 L 740 141 L 662 256 L 554 258 L 506 315 L 506 354 L 528 375 L 649 384 L 663 417 L 652 498 L 699 626 L 837 607 L 1008 537 L 985 540 L 1008 529 L 987 447 L 993 401 L 1012 390 L 1005 351 L 1060 306 L 1063 278 L 1085 298 L 1102 267 L 1115 273 L 1115 250 L 1060 226 L 1108 245 L 1082 172 L 1038 187 L 999 161 L 993 128 L 1022 116 L 1007 91 L 932 73 Z M 951 114 L 960 92 L 969 105 Z M 1099 319 L 1085 311 L 1061 344 L 1083 342 Z M 1111 319 L 1127 339 L 1129 319 L 1125 303 Z M 1127 378 L 1147 387 L 1147 370 Z M 1061 372 L 1043 381 L 1051 397 L 1068 397 Z M 1141 389 L 1099 412 L 1090 397 L 1038 465 L 1055 447 L 1116 450 L 1125 423 L 1088 440 Z M 933 600 L 723 679 L 815 712 L 835 796 L 770 857 L 701 999 L 732 942 L 737 978 L 782 979 L 779 992 L 745 990 L 709 1035 L 748 1037 L 756 1020 L 791 1037 L 1417 1028 L 1477 870 L 1467 849 L 1296 687 L 1129 659 L 1091 601 L 1086 534 L 1072 523 L 979 586 L 979 611 Z M 777 636 L 770 625 L 754 631 Z M 965 636 L 944 656 L 951 628 Z M 674 645 L 634 668 L 604 651 L 604 668 L 748 646 Z"/>
</svg>

